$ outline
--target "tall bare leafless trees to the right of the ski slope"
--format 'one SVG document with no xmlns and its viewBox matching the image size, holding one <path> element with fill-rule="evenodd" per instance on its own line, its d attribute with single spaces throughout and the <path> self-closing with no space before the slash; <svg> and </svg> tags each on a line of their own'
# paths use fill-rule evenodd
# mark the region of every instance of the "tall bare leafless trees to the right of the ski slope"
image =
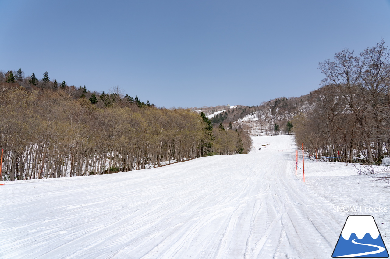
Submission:
<svg viewBox="0 0 390 259">
<path fill-rule="evenodd" d="M 312 108 L 293 119 L 296 142 L 330 161 L 379 164 L 390 151 L 390 51 L 382 40 L 319 63 Z"/>
</svg>

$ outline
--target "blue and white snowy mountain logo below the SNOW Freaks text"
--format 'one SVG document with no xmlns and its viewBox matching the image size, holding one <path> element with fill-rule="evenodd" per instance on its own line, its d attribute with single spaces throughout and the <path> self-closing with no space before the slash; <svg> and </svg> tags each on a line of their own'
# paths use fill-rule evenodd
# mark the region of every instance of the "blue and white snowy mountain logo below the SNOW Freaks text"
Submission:
<svg viewBox="0 0 390 259">
<path fill-rule="evenodd" d="M 348 216 L 332 257 L 388 258 L 374 217 Z"/>
</svg>

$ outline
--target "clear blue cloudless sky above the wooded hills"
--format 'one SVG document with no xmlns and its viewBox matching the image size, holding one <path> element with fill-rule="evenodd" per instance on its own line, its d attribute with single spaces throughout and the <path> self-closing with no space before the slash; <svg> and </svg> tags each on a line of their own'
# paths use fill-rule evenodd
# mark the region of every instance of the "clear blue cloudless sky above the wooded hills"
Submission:
<svg viewBox="0 0 390 259">
<path fill-rule="evenodd" d="M 259 105 L 317 89 L 318 63 L 382 38 L 385 0 L 0 0 L 0 70 L 157 106 Z"/>
</svg>

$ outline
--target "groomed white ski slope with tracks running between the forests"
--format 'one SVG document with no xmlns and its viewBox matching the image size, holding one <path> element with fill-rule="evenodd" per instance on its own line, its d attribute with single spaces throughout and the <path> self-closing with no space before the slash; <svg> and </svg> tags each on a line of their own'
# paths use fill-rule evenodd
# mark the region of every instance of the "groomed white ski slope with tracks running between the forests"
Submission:
<svg viewBox="0 0 390 259">
<path fill-rule="evenodd" d="M 390 188 L 308 159 L 303 182 L 293 136 L 253 140 L 245 155 L 5 182 L 0 258 L 331 258 L 348 215 L 373 215 L 390 247 Z"/>
</svg>

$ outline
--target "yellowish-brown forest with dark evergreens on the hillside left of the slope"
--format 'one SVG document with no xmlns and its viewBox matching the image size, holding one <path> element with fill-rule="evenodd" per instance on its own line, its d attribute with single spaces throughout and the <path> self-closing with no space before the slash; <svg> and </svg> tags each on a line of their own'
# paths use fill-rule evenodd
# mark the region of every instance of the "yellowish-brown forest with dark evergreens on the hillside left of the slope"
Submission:
<svg viewBox="0 0 390 259">
<path fill-rule="evenodd" d="M 0 74 L 1 180 L 126 172 L 215 154 L 248 152 L 250 137 L 188 109 L 156 108 L 120 90 Z M 211 126 L 211 127 L 210 127 Z"/>
</svg>

